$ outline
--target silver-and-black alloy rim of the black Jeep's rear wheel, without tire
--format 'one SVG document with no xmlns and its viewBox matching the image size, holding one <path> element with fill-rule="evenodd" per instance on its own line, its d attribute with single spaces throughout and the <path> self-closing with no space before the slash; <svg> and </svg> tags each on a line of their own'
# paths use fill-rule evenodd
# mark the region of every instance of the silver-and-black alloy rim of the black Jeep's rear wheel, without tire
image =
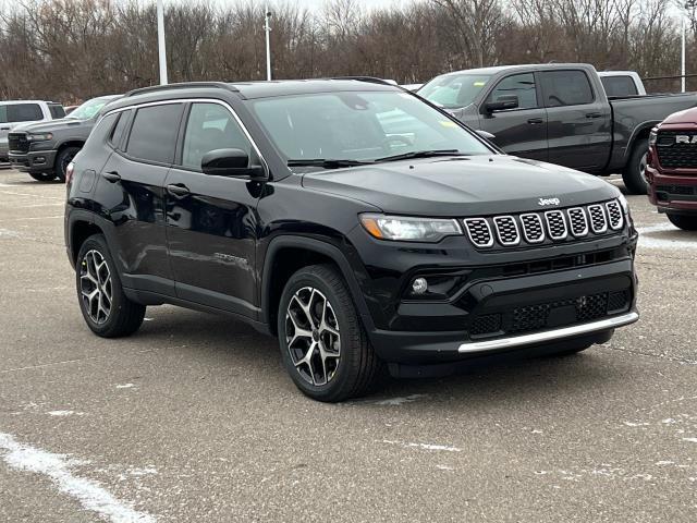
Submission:
<svg viewBox="0 0 697 523">
<path fill-rule="evenodd" d="M 111 271 L 99 251 L 88 251 L 80 267 L 80 292 L 85 312 L 95 324 L 101 325 L 111 314 Z"/>
</svg>

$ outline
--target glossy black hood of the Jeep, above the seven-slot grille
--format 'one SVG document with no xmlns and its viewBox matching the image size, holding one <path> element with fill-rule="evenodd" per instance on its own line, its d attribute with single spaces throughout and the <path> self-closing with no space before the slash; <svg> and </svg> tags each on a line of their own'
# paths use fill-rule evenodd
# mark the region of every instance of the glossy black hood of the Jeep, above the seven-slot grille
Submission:
<svg viewBox="0 0 697 523">
<path fill-rule="evenodd" d="M 543 210 L 590 204 L 621 194 L 597 177 L 506 155 L 428 158 L 325 170 L 305 174 L 303 185 L 358 199 L 384 212 L 435 217 Z"/>
</svg>

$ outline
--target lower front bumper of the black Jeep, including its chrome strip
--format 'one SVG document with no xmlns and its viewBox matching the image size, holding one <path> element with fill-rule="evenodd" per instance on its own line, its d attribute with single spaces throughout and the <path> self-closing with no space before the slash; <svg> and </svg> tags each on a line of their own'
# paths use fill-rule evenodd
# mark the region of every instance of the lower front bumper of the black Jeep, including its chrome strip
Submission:
<svg viewBox="0 0 697 523">
<path fill-rule="evenodd" d="M 461 329 L 375 329 L 370 339 L 389 363 L 448 367 L 523 349 L 559 352 L 576 348 L 579 340 L 602 343 L 613 329 L 638 319 L 635 303 L 636 276 L 633 260 L 626 258 L 573 270 L 479 280 L 449 305 L 460 309 L 454 321 Z M 395 374 L 405 373 L 402 368 Z"/>
</svg>

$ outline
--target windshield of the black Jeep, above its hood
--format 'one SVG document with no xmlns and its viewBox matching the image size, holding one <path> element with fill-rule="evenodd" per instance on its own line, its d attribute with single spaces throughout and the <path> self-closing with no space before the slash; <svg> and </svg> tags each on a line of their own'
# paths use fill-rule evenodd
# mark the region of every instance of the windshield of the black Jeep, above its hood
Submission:
<svg viewBox="0 0 697 523">
<path fill-rule="evenodd" d="M 250 104 L 289 160 L 374 161 L 443 149 L 465 155 L 492 153 L 457 123 L 406 93 L 321 93 Z"/>
</svg>

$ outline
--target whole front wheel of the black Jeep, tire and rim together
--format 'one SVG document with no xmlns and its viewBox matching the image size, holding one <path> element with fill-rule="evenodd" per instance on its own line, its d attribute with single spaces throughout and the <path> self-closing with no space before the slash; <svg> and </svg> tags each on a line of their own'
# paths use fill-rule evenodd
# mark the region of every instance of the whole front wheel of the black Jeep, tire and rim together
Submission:
<svg viewBox="0 0 697 523">
<path fill-rule="evenodd" d="M 343 277 L 331 265 L 304 267 L 291 276 L 281 295 L 278 332 L 286 370 L 314 400 L 357 398 L 377 381 L 382 363 Z"/>
</svg>

